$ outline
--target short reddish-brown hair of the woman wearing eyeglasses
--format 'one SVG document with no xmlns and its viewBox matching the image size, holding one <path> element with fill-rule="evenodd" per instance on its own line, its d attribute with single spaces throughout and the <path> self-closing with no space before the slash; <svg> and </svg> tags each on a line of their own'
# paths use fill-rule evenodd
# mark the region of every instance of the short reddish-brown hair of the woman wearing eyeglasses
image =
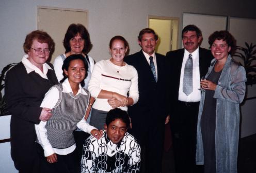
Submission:
<svg viewBox="0 0 256 173">
<path fill-rule="evenodd" d="M 29 52 L 34 40 L 37 40 L 39 43 L 47 43 L 49 49 L 51 50 L 51 54 L 54 52 L 55 43 L 52 37 L 47 34 L 47 32 L 35 30 L 27 34 L 25 42 L 23 44 L 23 49 L 26 54 Z"/>
</svg>

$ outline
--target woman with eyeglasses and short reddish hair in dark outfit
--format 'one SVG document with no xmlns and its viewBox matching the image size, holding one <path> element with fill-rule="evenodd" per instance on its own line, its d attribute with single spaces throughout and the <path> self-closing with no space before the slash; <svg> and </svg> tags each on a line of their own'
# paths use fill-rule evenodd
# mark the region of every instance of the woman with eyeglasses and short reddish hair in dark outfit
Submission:
<svg viewBox="0 0 256 173">
<path fill-rule="evenodd" d="M 35 124 L 49 120 L 51 109 L 40 104 L 51 86 L 58 84 L 49 59 L 54 42 L 49 34 L 33 31 L 26 36 L 26 53 L 21 62 L 7 72 L 5 95 L 11 113 L 11 157 L 19 172 L 38 172 Z"/>
</svg>

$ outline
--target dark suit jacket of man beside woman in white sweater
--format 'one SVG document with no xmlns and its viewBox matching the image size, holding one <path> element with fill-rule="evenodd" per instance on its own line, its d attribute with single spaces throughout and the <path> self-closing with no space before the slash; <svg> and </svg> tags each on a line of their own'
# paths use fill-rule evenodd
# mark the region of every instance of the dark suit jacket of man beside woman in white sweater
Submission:
<svg viewBox="0 0 256 173">
<path fill-rule="evenodd" d="M 124 58 L 124 61 L 136 68 L 138 72 L 139 100 L 129 106 L 129 114 L 132 119 L 148 121 L 165 120 L 165 56 L 156 54 L 157 82 L 142 50 Z"/>
</svg>

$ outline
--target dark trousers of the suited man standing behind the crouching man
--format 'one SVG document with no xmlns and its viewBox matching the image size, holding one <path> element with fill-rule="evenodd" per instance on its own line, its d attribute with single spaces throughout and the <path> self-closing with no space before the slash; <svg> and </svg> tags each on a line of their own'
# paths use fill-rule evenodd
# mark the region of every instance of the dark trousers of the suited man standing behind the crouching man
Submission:
<svg viewBox="0 0 256 173">
<path fill-rule="evenodd" d="M 137 139 L 141 147 L 141 173 L 162 172 L 165 121 L 152 123 L 135 121 L 130 133 Z"/>
</svg>

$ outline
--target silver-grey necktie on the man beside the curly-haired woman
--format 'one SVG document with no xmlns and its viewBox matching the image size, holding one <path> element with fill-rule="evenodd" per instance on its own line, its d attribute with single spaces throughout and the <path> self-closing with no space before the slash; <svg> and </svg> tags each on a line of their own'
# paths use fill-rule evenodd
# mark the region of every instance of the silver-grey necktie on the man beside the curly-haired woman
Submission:
<svg viewBox="0 0 256 173">
<path fill-rule="evenodd" d="M 183 92 L 189 95 L 193 91 L 193 59 L 192 54 L 188 55 L 183 76 Z"/>
</svg>

